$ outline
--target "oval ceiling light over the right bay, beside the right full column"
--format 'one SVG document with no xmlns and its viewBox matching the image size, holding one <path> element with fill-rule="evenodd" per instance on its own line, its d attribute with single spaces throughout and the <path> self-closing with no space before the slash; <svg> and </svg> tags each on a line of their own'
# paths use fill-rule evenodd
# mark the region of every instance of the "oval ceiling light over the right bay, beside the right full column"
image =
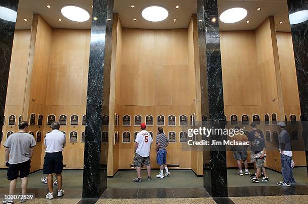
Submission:
<svg viewBox="0 0 308 204">
<path fill-rule="evenodd" d="M 219 16 L 223 23 L 235 23 L 243 20 L 248 12 L 244 8 L 232 8 L 222 12 Z"/>
</svg>

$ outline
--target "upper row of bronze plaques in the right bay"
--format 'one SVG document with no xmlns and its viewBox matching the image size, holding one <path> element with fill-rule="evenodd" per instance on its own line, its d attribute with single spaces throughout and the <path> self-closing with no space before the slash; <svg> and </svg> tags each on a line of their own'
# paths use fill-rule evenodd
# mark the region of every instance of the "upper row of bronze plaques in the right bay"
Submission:
<svg viewBox="0 0 308 204">
<path fill-rule="evenodd" d="M 224 117 L 225 117 L 225 120 L 226 120 L 226 116 L 224 116 Z M 270 118 L 269 114 L 264 115 L 265 124 L 270 124 L 269 118 Z M 253 115 L 252 119 L 253 119 L 253 122 L 260 124 L 260 116 L 259 115 Z M 273 113 L 271 115 L 271 119 L 272 119 L 272 124 L 277 124 L 277 114 L 276 113 Z M 238 124 L 238 116 L 237 115 L 231 115 L 230 121 L 231 121 L 231 124 Z M 287 121 L 286 115 L 285 115 L 285 121 Z M 296 123 L 296 115 L 293 115 L 293 114 L 290 115 L 290 121 L 291 121 L 291 124 L 295 124 Z M 249 124 L 249 116 L 248 115 L 242 115 L 242 124 Z"/>
</svg>

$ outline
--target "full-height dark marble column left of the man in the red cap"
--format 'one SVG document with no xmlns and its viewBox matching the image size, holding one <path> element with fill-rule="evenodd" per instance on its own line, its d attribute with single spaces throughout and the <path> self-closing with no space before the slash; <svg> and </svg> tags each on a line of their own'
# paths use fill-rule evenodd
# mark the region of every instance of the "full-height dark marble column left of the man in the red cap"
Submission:
<svg viewBox="0 0 308 204">
<path fill-rule="evenodd" d="M 99 198 L 107 188 L 108 139 L 102 132 L 108 131 L 113 0 L 94 0 L 92 17 L 83 198 Z"/>
</svg>

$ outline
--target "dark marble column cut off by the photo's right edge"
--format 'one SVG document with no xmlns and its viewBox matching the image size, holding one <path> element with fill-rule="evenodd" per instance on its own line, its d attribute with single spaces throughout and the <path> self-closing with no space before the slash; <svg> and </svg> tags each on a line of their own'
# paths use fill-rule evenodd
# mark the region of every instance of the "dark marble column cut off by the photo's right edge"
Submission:
<svg viewBox="0 0 308 204">
<path fill-rule="evenodd" d="M 298 11 L 308 10 L 307 0 L 288 0 L 289 14 Z M 293 49 L 295 56 L 295 66 L 297 84 L 299 91 L 299 102 L 301 112 L 301 123 L 303 125 L 302 137 L 305 142 L 306 164 L 308 174 L 308 20 L 291 25 Z"/>
</svg>

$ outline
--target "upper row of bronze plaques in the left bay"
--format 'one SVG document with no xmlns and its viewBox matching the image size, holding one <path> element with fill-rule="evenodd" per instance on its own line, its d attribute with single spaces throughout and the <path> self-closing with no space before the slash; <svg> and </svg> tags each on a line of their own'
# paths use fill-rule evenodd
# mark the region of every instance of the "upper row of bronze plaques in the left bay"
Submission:
<svg viewBox="0 0 308 204">
<path fill-rule="evenodd" d="M 4 122 L 3 125 L 5 125 L 6 121 L 6 116 L 4 116 Z M 30 118 L 29 118 L 29 125 L 43 125 L 43 118 L 44 116 L 42 114 L 38 115 L 37 123 L 36 123 L 36 114 L 31 113 Z M 21 122 L 23 120 L 22 115 L 19 116 L 18 121 Z M 56 121 L 56 116 L 55 115 L 48 115 L 47 117 L 47 125 L 51 125 L 52 122 Z M 59 116 L 59 122 L 60 125 L 67 125 L 67 116 L 66 115 L 60 115 Z M 9 122 L 8 125 L 16 125 L 16 116 L 15 115 L 10 115 L 9 116 Z M 79 116 L 78 115 L 71 115 L 70 116 L 70 125 L 79 125 Z M 86 115 L 83 116 L 83 121 L 82 125 L 86 125 Z"/>
</svg>

